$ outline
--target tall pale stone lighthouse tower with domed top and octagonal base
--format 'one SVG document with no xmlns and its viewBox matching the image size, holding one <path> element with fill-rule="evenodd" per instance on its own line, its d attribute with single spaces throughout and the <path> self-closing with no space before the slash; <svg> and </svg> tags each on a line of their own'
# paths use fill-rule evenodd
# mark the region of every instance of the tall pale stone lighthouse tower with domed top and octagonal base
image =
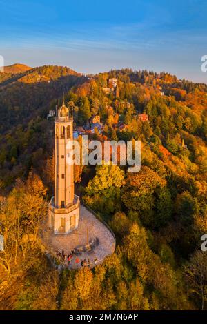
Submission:
<svg viewBox="0 0 207 324">
<path fill-rule="evenodd" d="M 67 163 L 73 140 L 73 117 L 63 103 L 55 118 L 55 196 L 49 204 L 49 227 L 67 234 L 79 225 L 79 196 L 74 194 L 74 165 Z"/>
</svg>

